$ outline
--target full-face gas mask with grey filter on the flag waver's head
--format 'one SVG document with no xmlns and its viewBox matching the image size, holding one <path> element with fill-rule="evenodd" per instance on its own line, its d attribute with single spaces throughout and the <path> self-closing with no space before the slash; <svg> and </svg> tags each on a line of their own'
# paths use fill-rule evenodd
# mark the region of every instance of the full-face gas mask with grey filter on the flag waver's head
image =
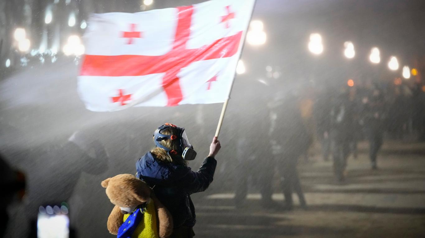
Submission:
<svg viewBox="0 0 425 238">
<path fill-rule="evenodd" d="M 169 127 L 174 127 L 178 130 L 177 135 L 164 135 L 161 133 L 161 130 L 164 130 Z M 160 141 L 163 140 L 177 140 L 179 143 L 178 151 L 174 149 L 169 149 L 167 147 L 164 147 Z M 193 146 L 189 143 L 189 139 L 187 139 L 186 132 L 184 131 L 183 127 L 177 127 L 176 125 L 165 123 L 164 125 L 158 127 L 155 130 L 155 133 L 153 134 L 153 141 L 155 141 L 156 147 L 159 147 L 161 149 L 164 149 L 167 151 L 169 155 L 181 155 L 181 157 L 185 161 L 193 161 L 196 157 L 196 151 L 193 149 Z"/>
</svg>

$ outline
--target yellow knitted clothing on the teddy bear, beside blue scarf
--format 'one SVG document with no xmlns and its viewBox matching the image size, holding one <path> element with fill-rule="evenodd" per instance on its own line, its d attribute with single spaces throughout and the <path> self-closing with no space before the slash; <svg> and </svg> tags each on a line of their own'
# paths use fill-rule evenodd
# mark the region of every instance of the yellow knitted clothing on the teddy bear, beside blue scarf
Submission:
<svg viewBox="0 0 425 238">
<path fill-rule="evenodd" d="M 124 215 L 124 222 L 130 214 Z M 146 211 L 143 213 L 143 220 L 137 225 L 131 238 L 159 238 L 156 226 L 156 211 L 155 204 L 150 201 L 146 206 Z"/>
</svg>

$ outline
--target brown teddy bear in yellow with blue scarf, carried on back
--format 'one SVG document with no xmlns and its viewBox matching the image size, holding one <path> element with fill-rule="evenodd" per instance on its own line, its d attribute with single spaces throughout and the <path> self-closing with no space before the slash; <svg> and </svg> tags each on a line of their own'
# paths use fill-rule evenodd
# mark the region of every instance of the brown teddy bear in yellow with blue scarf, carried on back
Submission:
<svg viewBox="0 0 425 238">
<path fill-rule="evenodd" d="M 152 189 L 132 174 L 103 180 L 102 187 L 115 207 L 107 227 L 118 238 L 166 238 L 173 232 L 173 218 Z"/>
</svg>

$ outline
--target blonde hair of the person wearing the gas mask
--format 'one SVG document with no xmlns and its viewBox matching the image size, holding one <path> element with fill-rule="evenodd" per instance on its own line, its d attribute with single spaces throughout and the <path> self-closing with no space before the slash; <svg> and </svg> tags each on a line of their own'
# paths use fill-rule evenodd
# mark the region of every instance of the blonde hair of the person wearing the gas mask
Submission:
<svg viewBox="0 0 425 238">
<path fill-rule="evenodd" d="M 175 127 L 168 127 L 165 128 L 163 130 L 161 130 L 161 133 L 164 135 L 176 135 L 176 136 L 180 136 L 178 135 L 178 130 Z M 155 139 L 155 138 L 153 138 Z M 159 143 L 161 145 L 163 145 L 164 147 L 167 147 L 168 149 L 173 149 L 175 151 L 178 151 L 178 149 L 180 148 L 180 140 L 170 140 L 170 139 L 166 139 L 163 141 L 159 141 Z M 155 155 L 155 157 L 162 162 L 167 162 L 167 163 L 175 163 L 175 164 L 181 164 L 181 165 L 187 165 L 187 161 L 185 161 L 183 159 L 183 157 L 181 157 L 181 155 L 177 154 L 177 155 L 169 155 L 167 153 L 167 151 L 165 151 L 165 149 L 159 148 L 159 147 L 155 147 L 150 151 L 153 155 Z"/>
</svg>

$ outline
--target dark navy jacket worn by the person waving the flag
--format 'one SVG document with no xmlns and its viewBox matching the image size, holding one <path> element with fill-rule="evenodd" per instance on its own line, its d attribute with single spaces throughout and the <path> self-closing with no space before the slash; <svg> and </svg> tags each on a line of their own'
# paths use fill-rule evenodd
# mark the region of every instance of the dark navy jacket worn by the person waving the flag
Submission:
<svg viewBox="0 0 425 238">
<path fill-rule="evenodd" d="M 173 216 L 174 228 L 195 225 L 195 208 L 190 194 L 205 191 L 212 182 L 217 161 L 204 159 L 197 172 L 184 165 L 158 161 L 147 152 L 136 162 L 137 177 L 146 182 Z"/>
</svg>

